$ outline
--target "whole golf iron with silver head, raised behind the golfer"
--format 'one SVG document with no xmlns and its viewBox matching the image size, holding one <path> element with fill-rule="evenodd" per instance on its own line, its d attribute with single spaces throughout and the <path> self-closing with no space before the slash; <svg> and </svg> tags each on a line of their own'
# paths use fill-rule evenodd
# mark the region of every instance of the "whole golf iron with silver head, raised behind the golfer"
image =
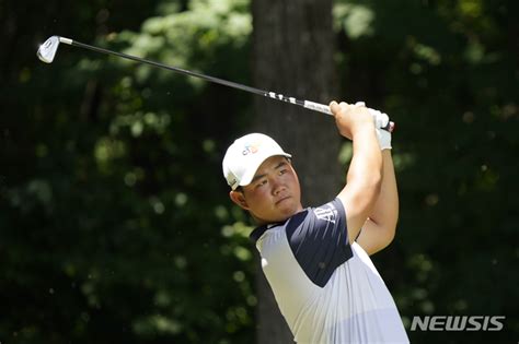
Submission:
<svg viewBox="0 0 519 344">
<path fill-rule="evenodd" d="M 79 48 L 85 48 L 85 49 L 102 52 L 102 54 L 118 56 L 118 57 L 122 57 L 122 58 L 125 58 L 125 59 L 128 59 L 128 60 L 134 60 L 134 61 L 137 61 L 137 62 L 141 62 L 141 63 L 155 66 L 155 67 L 163 68 L 163 69 L 170 70 L 170 71 L 174 71 L 174 72 L 177 72 L 177 73 L 181 73 L 181 74 L 186 74 L 186 75 L 204 79 L 204 80 L 212 82 L 212 83 L 217 83 L 217 84 L 221 84 L 221 85 L 224 85 L 224 86 L 229 86 L 229 87 L 242 90 L 242 91 L 245 91 L 245 92 L 254 93 L 254 94 L 262 95 L 262 96 L 265 96 L 265 97 L 269 97 L 269 98 L 273 98 L 273 99 L 277 99 L 277 100 L 280 100 L 280 102 L 299 105 L 299 106 L 302 106 L 307 109 L 311 109 L 311 110 L 314 110 L 314 111 L 319 111 L 319 112 L 323 112 L 323 114 L 333 116 L 332 111 L 330 110 L 330 107 L 327 105 L 324 105 L 324 104 L 314 103 L 314 102 L 310 102 L 310 100 L 296 99 L 295 97 L 288 97 L 288 96 L 285 96 L 282 94 L 268 92 L 268 91 L 264 91 L 264 90 L 260 90 L 260 88 L 254 88 L 254 87 L 251 87 L 251 86 L 245 86 L 245 85 L 242 85 L 242 84 L 239 84 L 239 83 L 235 83 L 235 82 L 222 80 L 222 79 L 215 78 L 215 76 L 204 75 L 204 74 L 200 74 L 200 73 L 196 73 L 196 72 L 185 70 L 185 69 L 171 67 L 171 66 L 168 66 L 168 64 L 163 64 L 163 63 L 159 63 L 159 62 L 155 62 L 155 61 L 139 58 L 139 57 L 136 57 L 136 56 L 131 56 L 131 55 L 127 55 L 127 54 L 123 54 L 123 52 L 116 52 L 116 51 L 112 51 L 112 50 L 90 46 L 90 45 L 86 45 L 86 44 L 83 44 L 83 43 L 80 43 L 80 41 L 77 41 L 77 40 L 73 40 L 73 39 L 70 39 L 70 38 L 60 37 L 60 36 L 51 36 L 44 44 L 42 44 L 39 46 L 38 51 L 37 51 L 38 58 L 42 61 L 46 62 L 46 63 L 51 63 L 54 61 L 54 58 L 56 57 L 56 51 L 58 51 L 58 47 L 59 47 L 60 43 L 66 44 L 66 45 L 70 45 L 70 46 L 74 46 L 74 47 L 79 47 Z M 370 109 L 370 110 L 373 111 L 372 109 Z M 389 121 L 388 126 L 385 126 L 382 129 L 392 132 L 393 129 L 394 129 L 394 123 Z"/>
</svg>

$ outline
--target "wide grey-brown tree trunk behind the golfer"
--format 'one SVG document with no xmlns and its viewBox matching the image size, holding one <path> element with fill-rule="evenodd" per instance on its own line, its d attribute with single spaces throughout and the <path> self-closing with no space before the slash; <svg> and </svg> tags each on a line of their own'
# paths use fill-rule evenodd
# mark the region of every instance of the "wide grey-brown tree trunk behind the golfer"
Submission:
<svg viewBox="0 0 519 344">
<path fill-rule="evenodd" d="M 332 0 L 253 0 L 255 86 L 328 104 L 336 88 Z M 332 200 L 344 180 L 341 137 L 332 117 L 256 97 L 253 131 L 292 154 L 303 206 Z M 291 343 L 292 335 L 257 263 L 257 343 Z"/>
</svg>

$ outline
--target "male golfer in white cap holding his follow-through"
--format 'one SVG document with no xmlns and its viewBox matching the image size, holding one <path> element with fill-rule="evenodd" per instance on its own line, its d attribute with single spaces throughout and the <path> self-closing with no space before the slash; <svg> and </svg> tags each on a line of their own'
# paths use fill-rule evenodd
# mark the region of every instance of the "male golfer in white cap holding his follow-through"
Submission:
<svg viewBox="0 0 519 344">
<path fill-rule="evenodd" d="M 251 238 L 297 343 L 408 343 L 369 256 L 393 239 L 399 199 L 385 114 L 332 102 L 353 141 L 346 186 L 328 203 L 301 205 L 296 170 L 273 139 L 242 137 L 223 158 L 230 198 L 257 222 Z"/>
</svg>

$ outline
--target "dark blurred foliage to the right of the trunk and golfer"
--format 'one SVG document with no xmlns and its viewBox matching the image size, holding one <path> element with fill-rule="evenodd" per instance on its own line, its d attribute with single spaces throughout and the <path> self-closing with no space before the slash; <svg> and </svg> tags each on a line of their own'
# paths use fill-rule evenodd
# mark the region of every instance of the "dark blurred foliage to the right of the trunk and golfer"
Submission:
<svg viewBox="0 0 519 344">
<path fill-rule="evenodd" d="M 517 3 L 341 1 L 337 8 L 343 94 L 383 108 L 397 123 L 399 234 L 374 260 L 401 315 L 407 324 L 416 315 L 507 317 L 500 333 L 412 332 L 412 342 L 515 341 L 519 26 L 510 15 Z M 369 29 L 347 32 L 359 11 L 370 11 Z"/>
</svg>

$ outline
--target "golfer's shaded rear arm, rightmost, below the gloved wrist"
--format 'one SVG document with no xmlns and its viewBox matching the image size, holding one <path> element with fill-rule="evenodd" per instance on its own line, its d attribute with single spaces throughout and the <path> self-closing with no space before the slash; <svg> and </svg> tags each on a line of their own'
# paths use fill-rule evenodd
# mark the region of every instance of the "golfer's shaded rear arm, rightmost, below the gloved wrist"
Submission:
<svg viewBox="0 0 519 344">
<path fill-rule="evenodd" d="M 382 157 L 380 194 L 357 239 L 368 254 L 373 254 L 391 244 L 399 221 L 399 193 L 391 150 L 382 151 Z"/>
</svg>

